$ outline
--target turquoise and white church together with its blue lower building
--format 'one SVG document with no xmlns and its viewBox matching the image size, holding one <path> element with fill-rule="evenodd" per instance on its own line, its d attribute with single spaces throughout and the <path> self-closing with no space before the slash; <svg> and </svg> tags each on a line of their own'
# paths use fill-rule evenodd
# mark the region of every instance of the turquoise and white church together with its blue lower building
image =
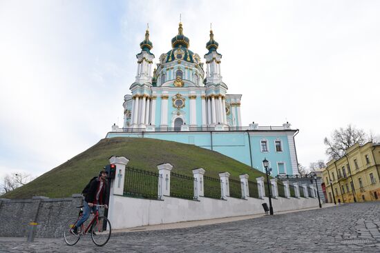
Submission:
<svg viewBox="0 0 380 253">
<path fill-rule="evenodd" d="M 107 138 L 147 137 L 211 149 L 261 171 L 263 159 L 277 174 L 298 174 L 294 136 L 298 130 L 282 126 L 242 126 L 241 94 L 227 94 L 222 80 L 218 42 L 210 30 L 204 63 L 189 50 L 182 23 L 153 69 L 149 30 L 140 43 L 137 73 L 131 94 L 124 96 L 124 125 L 113 125 Z"/>
</svg>

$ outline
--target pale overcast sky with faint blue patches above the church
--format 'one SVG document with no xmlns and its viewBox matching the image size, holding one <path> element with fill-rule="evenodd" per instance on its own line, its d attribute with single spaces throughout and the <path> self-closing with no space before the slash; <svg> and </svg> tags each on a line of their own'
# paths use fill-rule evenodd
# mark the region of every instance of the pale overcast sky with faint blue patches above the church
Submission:
<svg viewBox="0 0 380 253">
<path fill-rule="evenodd" d="M 180 13 L 200 56 L 212 23 L 243 125 L 300 130 L 299 163 L 326 161 L 335 128 L 380 133 L 380 1 L 0 0 L 0 179 L 39 176 L 121 126 L 146 23 L 158 62 Z"/>
</svg>

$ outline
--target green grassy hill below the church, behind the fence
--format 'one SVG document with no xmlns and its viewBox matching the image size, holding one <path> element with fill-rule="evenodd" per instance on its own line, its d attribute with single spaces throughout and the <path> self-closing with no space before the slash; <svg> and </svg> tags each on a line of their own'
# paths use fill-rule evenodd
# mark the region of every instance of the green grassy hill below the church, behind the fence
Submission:
<svg viewBox="0 0 380 253">
<path fill-rule="evenodd" d="M 3 198 L 27 199 L 32 196 L 50 198 L 71 196 L 82 192 L 91 177 L 96 176 L 110 156 L 125 156 L 128 166 L 158 172 L 157 165 L 171 163 L 172 172 L 192 175 L 194 168 L 204 168 L 206 176 L 218 178 L 219 172 L 228 171 L 231 179 L 239 174 L 249 174 L 251 180 L 263 176 L 262 172 L 252 170 L 218 152 L 199 148 L 196 145 L 142 138 L 102 139 L 88 150 L 74 156 L 66 163 L 46 172 L 32 182 L 4 194 Z"/>
</svg>

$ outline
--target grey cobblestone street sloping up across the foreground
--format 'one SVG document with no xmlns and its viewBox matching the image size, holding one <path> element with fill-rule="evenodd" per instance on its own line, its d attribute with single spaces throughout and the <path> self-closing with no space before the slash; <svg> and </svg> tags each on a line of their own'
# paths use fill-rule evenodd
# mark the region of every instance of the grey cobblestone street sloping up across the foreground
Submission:
<svg viewBox="0 0 380 253">
<path fill-rule="evenodd" d="M 13 241 L 12 241 L 13 240 Z M 86 236 L 0 241 L 0 252 L 380 252 L 380 202 L 355 203 L 231 223 L 113 234 L 102 248 Z"/>
</svg>

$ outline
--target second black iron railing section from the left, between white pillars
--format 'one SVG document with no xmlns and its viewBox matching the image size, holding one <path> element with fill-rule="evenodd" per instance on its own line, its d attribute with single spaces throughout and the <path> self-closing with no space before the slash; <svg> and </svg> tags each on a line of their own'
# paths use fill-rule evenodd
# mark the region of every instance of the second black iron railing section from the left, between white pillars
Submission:
<svg viewBox="0 0 380 253">
<path fill-rule="evenodd" d="M 170 196 L 181 199 L 198 199 L 198 196 L 194 194 L 194 184 L 196 184 L 196 179 L 192 176 L 171 172 Z"/>
</svg>

